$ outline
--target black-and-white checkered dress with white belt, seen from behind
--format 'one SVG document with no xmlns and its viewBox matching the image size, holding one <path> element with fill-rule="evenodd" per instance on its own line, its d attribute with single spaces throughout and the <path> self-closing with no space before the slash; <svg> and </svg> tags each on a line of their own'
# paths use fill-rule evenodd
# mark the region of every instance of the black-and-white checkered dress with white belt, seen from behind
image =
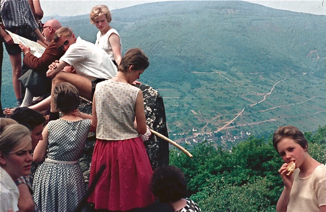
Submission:
<svg viewBox="0 0 326 212">
<path fill-rule="evenodd" d="M 90 119 L 49 122 L 46 158 L 77 161 L 82 155 L 90 126 Z M 78 163 L 44 162 L 36 170 L 33 190 L 34 200 L 41 211 L 73 211 L 86 193 L 83 172 Z"/>
</svg>

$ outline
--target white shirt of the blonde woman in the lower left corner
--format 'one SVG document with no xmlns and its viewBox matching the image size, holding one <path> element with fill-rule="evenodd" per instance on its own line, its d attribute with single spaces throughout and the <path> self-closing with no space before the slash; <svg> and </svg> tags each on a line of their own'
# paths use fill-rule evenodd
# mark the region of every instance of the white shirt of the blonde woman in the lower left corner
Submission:
<svg viewBox="0 0 326 212">
<path fill-rule="evenodd" d="M 0 212 L 18 211 L 19 190 L 11 176 L 0 167 Z"/>
</svg>

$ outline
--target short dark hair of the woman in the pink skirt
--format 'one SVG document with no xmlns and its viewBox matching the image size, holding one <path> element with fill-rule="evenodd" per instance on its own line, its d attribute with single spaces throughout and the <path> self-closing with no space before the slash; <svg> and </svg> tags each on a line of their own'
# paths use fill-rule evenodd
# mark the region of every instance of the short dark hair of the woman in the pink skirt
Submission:
<svg viewBox="0 0 326 212">
<path fill-rule="evenodd" d="M 134 67 L 134 71 L 148 68 L 148 57 L 140 48 L 128 49 L 121 59 L 118 71 L 127 72 L 130 66 Z"/>
</svg>

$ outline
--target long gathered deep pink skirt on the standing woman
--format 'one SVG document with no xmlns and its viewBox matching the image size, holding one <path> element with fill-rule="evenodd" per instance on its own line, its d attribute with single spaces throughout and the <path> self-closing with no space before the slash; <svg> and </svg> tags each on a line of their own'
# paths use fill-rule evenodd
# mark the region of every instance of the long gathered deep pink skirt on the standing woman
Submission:
<svg viewBox="0 0 326 212">
<path fill-rule="evenodd" d="M 97 139 L 89 185 L 103 164 L 104 172 L 88 198 L 96 209 L 126 211 L 154 202 L 150 191 L 153 170 L 140 137 L 121 141 Z"/>
</svg>

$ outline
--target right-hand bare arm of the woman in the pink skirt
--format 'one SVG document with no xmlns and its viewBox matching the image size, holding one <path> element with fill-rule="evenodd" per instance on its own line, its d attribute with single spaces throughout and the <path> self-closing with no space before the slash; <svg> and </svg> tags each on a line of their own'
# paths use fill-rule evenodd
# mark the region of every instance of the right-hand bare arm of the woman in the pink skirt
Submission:
<svg viewBox="0 0 326 212">
<path fill-rule="evenodd" d="M 135 104 L 135 123 L 134 127 L 141 135 L 146 133 L 146 117 L 144 112 L 144 97 L 143 92 L 140 90 L 137 95 Z"/>
</svg>

